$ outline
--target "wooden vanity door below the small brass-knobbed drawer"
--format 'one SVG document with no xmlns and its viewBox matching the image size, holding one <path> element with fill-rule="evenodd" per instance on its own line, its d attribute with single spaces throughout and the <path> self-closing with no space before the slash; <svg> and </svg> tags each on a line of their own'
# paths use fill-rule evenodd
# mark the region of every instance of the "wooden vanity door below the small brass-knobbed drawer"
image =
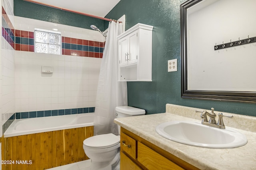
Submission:
<svg viewBox="0 0 256 170">
<path fill-rule="evenodd" d="M 142 170 L 137 164 L 135 164 L 130 158 L 128 158 L 123 152 L 120 152 L 120 170 Z"/>
</svg>

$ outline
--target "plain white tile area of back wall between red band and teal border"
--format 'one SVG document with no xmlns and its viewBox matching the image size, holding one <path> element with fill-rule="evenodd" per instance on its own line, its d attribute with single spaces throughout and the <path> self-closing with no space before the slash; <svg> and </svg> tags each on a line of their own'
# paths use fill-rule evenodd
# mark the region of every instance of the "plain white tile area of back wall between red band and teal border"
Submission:
<svg viewBox="0 0 256 170">
<path fill-rule="evenodd" d="M 94 107 L 100 65 L 101 58 L 16 50 L 15 112 Z"/>
</svg>

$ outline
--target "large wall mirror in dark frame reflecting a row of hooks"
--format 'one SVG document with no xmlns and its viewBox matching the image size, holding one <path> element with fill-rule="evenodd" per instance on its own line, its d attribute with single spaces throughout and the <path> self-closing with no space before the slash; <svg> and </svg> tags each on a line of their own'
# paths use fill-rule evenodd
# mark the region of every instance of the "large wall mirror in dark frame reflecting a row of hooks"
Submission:
<svg viewBox="0 0 256 170">
<path fill-rule="evenodd" d="M 182 98 L 256 102 L 255 0 L 180 6 Z"/>
</svg>

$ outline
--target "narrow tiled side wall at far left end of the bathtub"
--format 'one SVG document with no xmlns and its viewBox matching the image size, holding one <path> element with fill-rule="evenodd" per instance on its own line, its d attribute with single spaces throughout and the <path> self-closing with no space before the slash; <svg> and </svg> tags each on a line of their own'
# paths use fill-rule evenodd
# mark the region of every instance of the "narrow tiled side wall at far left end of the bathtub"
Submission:
<svg viewBox="0 0 256 170">
<path fill-rule="evenodd" d="M 2 126 L 15 112 L 14 14 L 11 0 L 2 0 L 0 60 L 0 116 Z M 5 9 L 5 10 L 3 10 Z M 12 121 L 8 122 L 9 124 Z M 2 128 L 0 128 L 2 136 Z"/>
</svg>

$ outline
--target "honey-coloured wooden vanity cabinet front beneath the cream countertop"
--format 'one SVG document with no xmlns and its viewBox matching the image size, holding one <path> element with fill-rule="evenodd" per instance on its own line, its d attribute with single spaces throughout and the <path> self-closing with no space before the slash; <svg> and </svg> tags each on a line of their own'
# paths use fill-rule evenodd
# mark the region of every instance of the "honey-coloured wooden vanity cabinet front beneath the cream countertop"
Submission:
<svg viewBox="0 0 256 170">
<path fill-rule="evenodd" d="M 120 170 L 199 170 L 121 127 Z"/>
</svg>

